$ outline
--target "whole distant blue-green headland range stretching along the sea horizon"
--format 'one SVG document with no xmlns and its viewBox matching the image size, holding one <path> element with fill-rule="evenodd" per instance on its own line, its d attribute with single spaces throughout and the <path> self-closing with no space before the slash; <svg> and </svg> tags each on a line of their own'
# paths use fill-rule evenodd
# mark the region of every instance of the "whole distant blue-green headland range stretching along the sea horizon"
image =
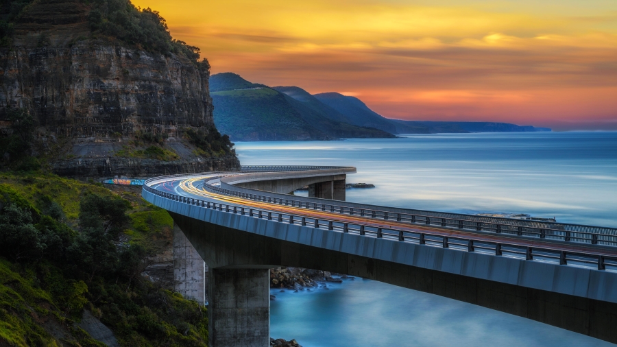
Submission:
<svg viewBox="0 0 617 347">
<path fill-rule="evenodd" d="M 391 138 L 398 134 L 550 132 L 496 122 L 404 121 L 374 112 L 340 93 L 311 95 L 297 86 L 269 87 L 235 73 L 210 77 L 214 120 L 232 141 L 308 141 Z"/>
</svg>

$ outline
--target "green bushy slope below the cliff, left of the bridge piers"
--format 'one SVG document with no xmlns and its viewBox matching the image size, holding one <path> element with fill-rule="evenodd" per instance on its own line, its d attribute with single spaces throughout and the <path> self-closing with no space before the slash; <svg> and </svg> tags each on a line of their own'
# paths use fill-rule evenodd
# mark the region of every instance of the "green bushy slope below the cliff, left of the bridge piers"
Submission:
<svg viewBox="0 0 617 347">
<path fill-rule="evenodd" d="M 101 184 L 2 173 L 0 345 L 102 346 L 74 324 L 88 310 L 123 346 L 204 346 L 206 309 L 141 276 L 172 223 Z"/>
</svg>

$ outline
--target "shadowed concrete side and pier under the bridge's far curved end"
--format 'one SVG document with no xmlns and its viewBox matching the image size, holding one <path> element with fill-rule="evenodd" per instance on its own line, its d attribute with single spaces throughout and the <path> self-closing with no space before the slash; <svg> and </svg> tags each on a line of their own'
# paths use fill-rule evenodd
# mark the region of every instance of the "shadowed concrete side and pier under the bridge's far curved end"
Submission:
<svg viewBox="0 0 617 347">
<path fill-rule="evenodd" d="M 345 201 L 346 175 L 316 176 L 306 178 L 285 178 L 234 183 L 236 187 L 258 189 L 272 193 L 289 194 L 292 191 L 309 187 L 311 198 Z"/>
</svg>

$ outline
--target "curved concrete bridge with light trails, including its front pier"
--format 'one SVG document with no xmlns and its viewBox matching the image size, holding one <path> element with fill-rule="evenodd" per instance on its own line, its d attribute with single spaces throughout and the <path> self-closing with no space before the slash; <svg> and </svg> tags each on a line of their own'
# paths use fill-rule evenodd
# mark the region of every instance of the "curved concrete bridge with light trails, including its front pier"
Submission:
<svg viewBox="0 0 617 347">
<path fill-rule="evenodd" d="M 267 269 L 281 265 L 380 280 L 617 343 L 615 228 L 250 188 L 269 181 L 291 189 L 353 172 L 243 167 L 145 182 L 143 197 L 169 211 L 210 267 L 210 346 L 268 345 Z"/>
</svg>

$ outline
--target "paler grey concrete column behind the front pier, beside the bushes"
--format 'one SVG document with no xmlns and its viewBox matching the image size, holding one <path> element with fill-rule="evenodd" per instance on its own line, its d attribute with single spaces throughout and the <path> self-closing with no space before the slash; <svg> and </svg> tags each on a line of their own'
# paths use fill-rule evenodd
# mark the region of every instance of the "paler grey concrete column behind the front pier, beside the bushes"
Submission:
<svg viewBox="0 0 617 347">
<path fill-rule="evenodd" d="M 184 298 L 206 303 L 208 266 L 186 239 L 184 232 L 173 224 L 173 289 Z"/>
</svg>

